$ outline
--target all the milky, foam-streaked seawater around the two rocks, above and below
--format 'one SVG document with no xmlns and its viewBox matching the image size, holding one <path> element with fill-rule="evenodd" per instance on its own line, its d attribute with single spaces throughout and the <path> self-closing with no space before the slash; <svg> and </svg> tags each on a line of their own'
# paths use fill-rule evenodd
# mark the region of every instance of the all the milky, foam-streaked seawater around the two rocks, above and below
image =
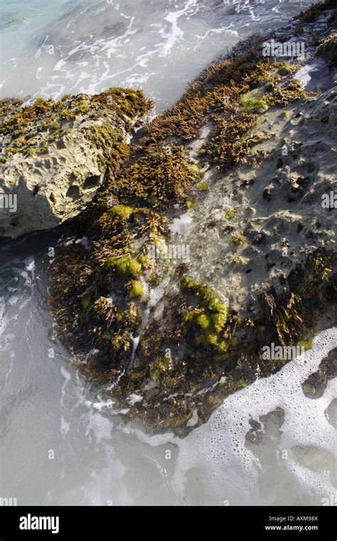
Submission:
<svg viewBox="0 0 337 541">
<path fill-rule="evenodd" d="M 280 26 L 307 4 L 0 0 L 1 96 L 139 85 L 160 111 L 233 43 Z M 48 248 L 59 237 L 53 231 L 0 244 L 1 497 L 19 505 L 335 501 L 336 382 L 316 400 L 304 396 L 301 382 L 336 346 L 336 332 L 323 332 L 314 350 L 230 396 L 184 440 L 148 436 L 120 423 L 53 339 L 45 299 Z M 260 416 L 267 417 L 252 443 L 249 419 Z"/>
</svg>

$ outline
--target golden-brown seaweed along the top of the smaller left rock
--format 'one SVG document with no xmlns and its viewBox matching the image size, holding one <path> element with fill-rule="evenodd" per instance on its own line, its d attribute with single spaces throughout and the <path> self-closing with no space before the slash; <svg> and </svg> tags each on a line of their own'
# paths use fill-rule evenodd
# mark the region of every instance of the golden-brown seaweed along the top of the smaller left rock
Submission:
<svg viewBox="0 0 337 541">
<path fill-rule="evenodd" d="M 0 100 L 0 134 L 6 136 L 1 162 L 17 152 L 48 153 L 49 145 L 69 130 L 78 129 L 85 116 L 97 120 L 86 135 L 102 148 L 105 162 L 109 161 L 110 167 L 114 161 L 122 163 L 128 157 L 125 130 L 131 130 L 134 122 L 152 107 L 142 90 L 137 90 L 137 100 L 129 100 L 130 95 L 134 95 L 131 89 L 109 88 L 94 96 L 65 95 L 59 101 L 37 98 L 32 105 L 25 106 L 21 100 Z M 114 122 L 111 122 L 112 117 Z M 102 118 L 106 122 L 102 122 Z M 39 134 L 42 137 L 37 140 L 35 136 Z"/>
</svg>

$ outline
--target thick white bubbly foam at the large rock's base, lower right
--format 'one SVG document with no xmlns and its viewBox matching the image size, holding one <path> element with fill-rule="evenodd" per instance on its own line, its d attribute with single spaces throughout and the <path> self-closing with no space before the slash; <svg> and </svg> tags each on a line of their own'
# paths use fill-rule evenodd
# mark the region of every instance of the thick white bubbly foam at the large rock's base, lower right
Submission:
<svg viewBox="0 0 337 541">
<path fill-rule="evenodd" d="M 166 434 L 146 436 L 131 426 L 122 430 L 137 435 L 150 446 L 174 443 L 178 458 L 172 478 L 177 498 L 186 496 L 186 483 L 197 472 L 199 485 L 203 485 L 203 498 L 221 505 L 265 505 L 269 503 L 258 490 L 259 484 L 273 483 L 272 474 L 265 476 L 264 464 L 245 445 L 250 430 L 250 419 L 259 421 L 277 408 L 284 410 L 284 424 L 278 442 L 279 451 L 286 451 L 283 460 L 284 476 L 290 476 L 289 486 L 301 487 L 303 503 L 306 495 L 316 495 L 316 502 L 328 495 L 335 495 L 330 475 L 326 470 L 311 471 L 296 460 L 296 446 L 319 448 L 336 456 L 336 429 L 329 424 L 324 411 L 336 396 L 337 382 L 331 380 L 319 399 L 307 398 L 301 384 L 315 372 L 321 359 L 337 345 L 337 329 L 321 332 L 314 339 L 312 350 L 289 362 L 281 371 L 268 378 L 257 379 L 249 387 L 229 396 L 209 421 L 181 440 Z M 277 463 L 277 456 L 274 458 Z M 278 465 L 279 466 L 279 465 Z M 275 464 L 276 467 L 276 464 Z M 281 466 L 280 466 L 281 467 Z M 264 478 L 265 476 L 265 478 Z M 195 485 L 195 481 L 191 481 Z M 289 486 L 287 490 L 289 490 Z M 200 487 L 199 487 L 200 488 Z M 279 497 L 281 498 L 282 488 Z M 277 492 L 274 490 L 277 499 Z M 291 496 L 288 496 L 291 501 Z M 294 498 L 296 498 L 294 496 Z M 191 503 L 191 502 L 190 502 Z M 192 502 L 193 503 L 193 502 Z"/>
</svg>

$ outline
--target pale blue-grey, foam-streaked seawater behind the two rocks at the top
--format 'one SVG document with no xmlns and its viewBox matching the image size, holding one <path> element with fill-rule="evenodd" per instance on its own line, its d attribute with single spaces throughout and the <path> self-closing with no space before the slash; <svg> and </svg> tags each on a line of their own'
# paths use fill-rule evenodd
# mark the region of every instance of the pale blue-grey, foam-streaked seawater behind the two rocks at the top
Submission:
<svg viewBox="0 0 337 541">
<path fill-rule="evenodd" d="M 1 0 L 0 97 L 144 88 L 159 112 L 241 38 L 308 1 Z"/>
</svg>

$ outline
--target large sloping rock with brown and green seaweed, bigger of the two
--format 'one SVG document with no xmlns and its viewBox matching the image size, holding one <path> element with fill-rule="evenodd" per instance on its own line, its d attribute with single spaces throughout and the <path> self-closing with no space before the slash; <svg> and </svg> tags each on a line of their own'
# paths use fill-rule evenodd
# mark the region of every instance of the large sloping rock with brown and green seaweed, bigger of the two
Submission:
<svg viewBox="0 0 337 541">
<path fill-rule="evenodd" d="M 107 175 L 71 231 L 86 245 L 58 251 L 60 336 L 127 419 L 186 434 L 291 360 L 270 345 L 336 322 L 336 88 L 315 56 L 330 7 L 210 65 Z M 294 36 L 304 58 L 263 56 Z"/>
</svg>

